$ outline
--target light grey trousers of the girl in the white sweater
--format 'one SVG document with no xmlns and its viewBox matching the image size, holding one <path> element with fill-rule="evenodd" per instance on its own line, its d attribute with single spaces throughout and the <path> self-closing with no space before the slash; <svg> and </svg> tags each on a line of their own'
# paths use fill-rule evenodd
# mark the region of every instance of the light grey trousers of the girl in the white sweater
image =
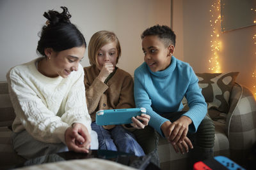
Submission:
<svg viewBox="0 0 256 170">
<path fill-rule="evenodd" d="M 64 134 L 63 134 L 64 135 Z M 96 132 L 91 132 L 91 149 L 98 148 Z M 33 159 L 51 153 L 67 152 L 68 148 L 64 143 L 44 143 L 33 138 L 27 131 L 19 133 L 12 132 L 13 149 L 18 155 L 25 159 Z"/>
</svg>

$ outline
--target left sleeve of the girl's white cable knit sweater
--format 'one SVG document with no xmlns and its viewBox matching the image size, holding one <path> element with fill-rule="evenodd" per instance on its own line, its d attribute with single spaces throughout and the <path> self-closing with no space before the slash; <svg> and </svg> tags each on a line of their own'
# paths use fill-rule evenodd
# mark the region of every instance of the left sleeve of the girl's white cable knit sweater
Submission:
<svg viewBox="0 0 256 170">
<path fill-rule="evenodd" d="M 19 74 L 12 73 L 11 70 L 6 78 L 16 120 L 38 141 L 65 143 L 64 133 L 69 125 L 45 106 L 42 99 Z M 14 130 L 19 131 L 19 127 L 15 127 L 15 124 L 13 126 Z"/>
</svg>

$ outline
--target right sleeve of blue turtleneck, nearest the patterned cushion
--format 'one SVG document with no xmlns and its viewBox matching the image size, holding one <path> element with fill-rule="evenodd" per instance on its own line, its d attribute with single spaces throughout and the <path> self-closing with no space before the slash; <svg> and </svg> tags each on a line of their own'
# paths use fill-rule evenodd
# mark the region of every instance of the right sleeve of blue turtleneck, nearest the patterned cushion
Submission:
<svg viewBox="0 0 256 170">
<path fill-rule="evenodd" d="M 202 89 L 198 85 L 198 78 L 193 69 L 190 69 L 191 79 L 186 91 L 185 97 L 188 101 L 189 111 L 184 116 L 191 118 L 192 124 L 189 125 L 189 132 L 196 132 L 207 113 L 207 104 L 205 103 Z"/>
</svg>

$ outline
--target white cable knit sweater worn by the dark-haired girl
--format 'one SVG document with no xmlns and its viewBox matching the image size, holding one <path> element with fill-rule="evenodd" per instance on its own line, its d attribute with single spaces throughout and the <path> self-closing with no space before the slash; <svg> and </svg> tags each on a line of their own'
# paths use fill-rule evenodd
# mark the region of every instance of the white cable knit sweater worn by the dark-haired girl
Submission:
<svg viewBox="0 0 256 170">
<path fill-rule="evenodd" d="M 10 69 L 6 78 L 16 113 L 13 132 L 26 129 L 39 141 L 65 143 L 66 129 L 79 122 L 91 133 L 81 64 L 67 78 L 49 78 L 36 69 L 36 60 L 32 60 Z"/>
</svg>

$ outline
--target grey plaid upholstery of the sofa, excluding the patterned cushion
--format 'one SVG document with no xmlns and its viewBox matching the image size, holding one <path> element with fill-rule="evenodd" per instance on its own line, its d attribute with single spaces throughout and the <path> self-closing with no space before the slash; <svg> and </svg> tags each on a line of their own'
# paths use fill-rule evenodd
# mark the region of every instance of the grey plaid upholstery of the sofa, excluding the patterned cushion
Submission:
<svg viewBox="0 0 256 170">
<path fill-rule="evenodd" d="M 6 81 L 0 82 L 0 169 L 22 161 L 13 151 L 10 141 L 11 131 L 8 126 L 12 125 L 14 117 L 8 85 Z M 256 104 L 252 92 L 235 83 L 230 94 L 228 113 L 220 121 L 214 119 L 214 123 L 214 155 L 224 155 L 243 164 L 256 141 Z M 161 169 L 186 169 L 188 164 L 188 154 L 175 153 L 164 138 L 159 139 L 159 159 Z"/>
</svg>

